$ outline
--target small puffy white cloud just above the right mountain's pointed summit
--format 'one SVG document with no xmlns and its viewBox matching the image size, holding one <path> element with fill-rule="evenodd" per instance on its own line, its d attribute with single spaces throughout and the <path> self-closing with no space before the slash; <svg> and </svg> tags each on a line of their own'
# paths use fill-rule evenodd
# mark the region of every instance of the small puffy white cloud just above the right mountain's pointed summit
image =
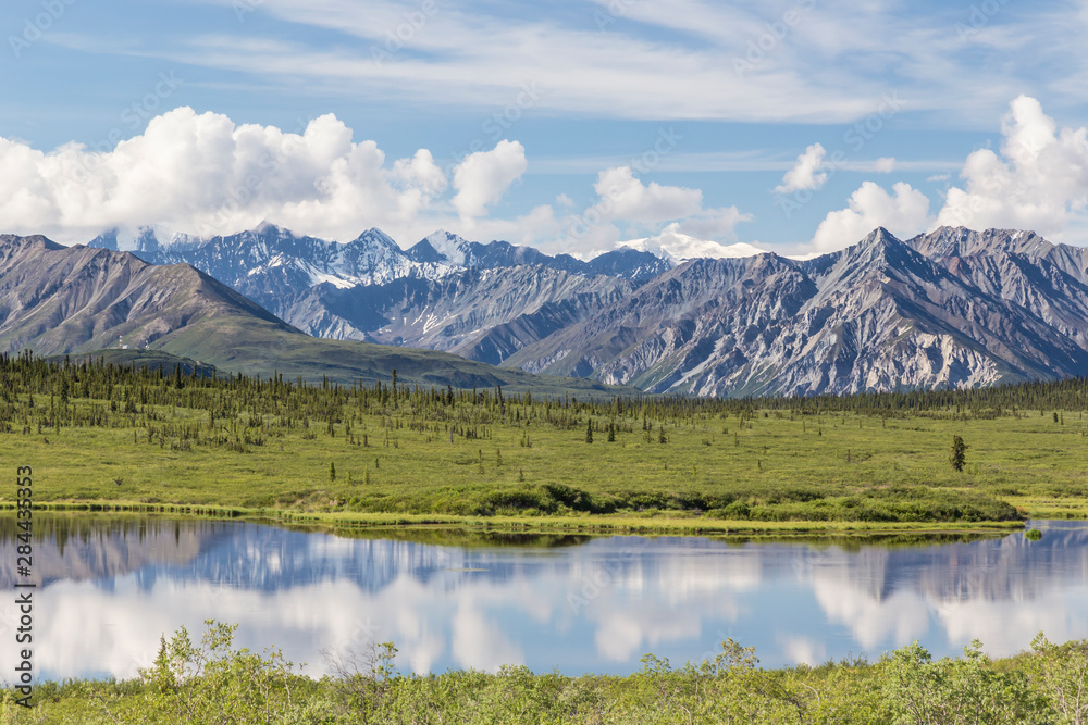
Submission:
<svg viewBox="0 0 1088 725">
<path fill-rule="evenodd" d="M 817 252 L 843 249 L 864 238 L 878 226 L 895 235 L 924 232 L 931 221 L 929 198 L 910 184 L 900 182 L 888 193 L 873 182 L 865 182 L 850 196 L 849 208 L 825 217 L 813 237 Z"/>
</svg>

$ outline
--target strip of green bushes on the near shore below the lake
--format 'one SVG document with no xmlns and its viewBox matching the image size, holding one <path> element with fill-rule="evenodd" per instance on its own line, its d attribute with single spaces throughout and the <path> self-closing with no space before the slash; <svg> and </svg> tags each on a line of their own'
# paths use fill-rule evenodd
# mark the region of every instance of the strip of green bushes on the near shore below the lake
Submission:
<svg viewBox="0 0 1088 725">
<path fill-rule="evenodd" d="M 332 677 L 298 674 L 275 649 L 232 648 L 234 626 L 163 638 L 136 679 L 38 688 L 33 710 L 0 693 L 3 723 L 902 723 L 1088 722 L 1088 640 L 990 660 L 973 642 L 932 661 L 917 642 L 885 655 L 763 670 L 732 640 L 700 664 L 647 654 L 628 677 L 567 677 L 507 666 L 403 676 L 392 643 L 331 652 Z"/>
</svg>

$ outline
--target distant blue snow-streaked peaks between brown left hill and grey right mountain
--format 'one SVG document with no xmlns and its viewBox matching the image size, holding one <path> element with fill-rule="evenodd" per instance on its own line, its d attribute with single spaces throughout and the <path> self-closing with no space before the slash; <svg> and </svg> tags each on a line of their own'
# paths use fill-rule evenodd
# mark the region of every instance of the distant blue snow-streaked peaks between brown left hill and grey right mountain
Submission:
<svg viewBox="0 0 1088 725">
<path fill-rule="evenodd" d="M 115 250 L 116 235 L 89 246 Z M 157 265 L 190 264 L 316 337 L 443 350 L 491 364 L 675 266 L 633 249 L 583 262 L 443 230 L 408 250 L 379 229 L 342 245 L 271 224 L 169 245 L 145 229 L 133 253 Z"/>
</svg>

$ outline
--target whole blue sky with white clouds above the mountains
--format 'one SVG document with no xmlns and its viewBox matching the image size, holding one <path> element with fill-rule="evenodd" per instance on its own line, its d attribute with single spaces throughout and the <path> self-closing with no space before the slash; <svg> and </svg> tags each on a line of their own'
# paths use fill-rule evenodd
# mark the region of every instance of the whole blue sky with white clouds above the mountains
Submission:
<svg viewBox="0 0 1088 725">
<path fill-rule="evenodd" d="M 1085 1 L 9 0 L 0 28 L 4 232 L 1088 243 Z"/>
</svg>

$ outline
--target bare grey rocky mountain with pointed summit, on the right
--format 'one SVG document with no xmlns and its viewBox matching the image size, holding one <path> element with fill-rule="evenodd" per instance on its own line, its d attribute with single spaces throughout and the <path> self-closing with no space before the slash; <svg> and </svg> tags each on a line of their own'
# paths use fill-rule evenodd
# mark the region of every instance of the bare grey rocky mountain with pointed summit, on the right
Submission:
<svg viewBox="0 0 1088 725">
<path fill-rule="evenodd" d="M 505 364 L 656 392 L 811 395 L 1088 375 L 1085 250 L 877 229 L 815 260 L 695 260 Z"/>
</svg>

